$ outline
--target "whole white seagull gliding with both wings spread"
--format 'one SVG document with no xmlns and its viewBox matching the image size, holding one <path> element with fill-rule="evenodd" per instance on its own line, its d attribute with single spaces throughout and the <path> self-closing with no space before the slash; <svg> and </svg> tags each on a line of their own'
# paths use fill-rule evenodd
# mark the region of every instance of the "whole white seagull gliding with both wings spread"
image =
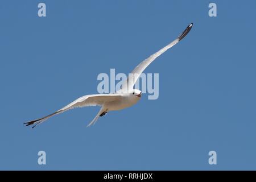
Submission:
<svg viewBox="0 0 256 182">
<path fill-rule="evenodd" d="M 188 27 L 180 34 L 174 41 L 168 44 L 166 47 L 160 49 L 158 52 L 154 53 L 147 59 L 143 60 L 132 72 L 129 74 L 127 80 L 123 83 L 122 88 L 115 93 L 109 94 L 91 94 L 77 98 L 77 100 L 71 102 L 67 106 L 55 111 L 46 117 L 35 119 L 30 122 L 24 123 L 26 126 L 32 125 L 32 128 L 39 125 L 40 123 L 46 121 L 46 119 L 51 118 L 53 115 L 63 113 L 67 110 L 73 109 L 75 107 L 86 107 L 86 106 L 101 106 L 100 111 L 96 117 L 89 123 L 88 126 L 92 126 L 96 123 L 99 117 L 104 116 L 109 111 L 121 110 L 126 107 L 133 106 L 136 104 L 142 96 L 141 90 L 133 89 L 135 82 L 138 80 L 141 73 L 162 53 L 166 52 L 172 46 L 180 42 L 188 32 L 191 30 L 193 23 L 189 24 Z M 87 126 L 87 127 L 88 127 Z"/>
</svg>

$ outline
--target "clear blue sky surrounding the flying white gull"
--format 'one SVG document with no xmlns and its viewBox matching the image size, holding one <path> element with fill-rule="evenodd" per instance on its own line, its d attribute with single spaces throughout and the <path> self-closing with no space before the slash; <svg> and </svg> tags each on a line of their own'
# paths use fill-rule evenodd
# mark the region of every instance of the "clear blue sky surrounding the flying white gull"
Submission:
<svg viewBox="0 0 256 182">
<path fill-rule="evenodd" d="M 256 1 L 1 1 L 0 169 L 256 169 L 255 9 Z M 159 73 L 158 100 L 144 94 L 88 128 L 99 107 L 22 125 L 97 93 L 99 73 L 129 73 L 191 22 L 145 71 Z"/>
</svg>

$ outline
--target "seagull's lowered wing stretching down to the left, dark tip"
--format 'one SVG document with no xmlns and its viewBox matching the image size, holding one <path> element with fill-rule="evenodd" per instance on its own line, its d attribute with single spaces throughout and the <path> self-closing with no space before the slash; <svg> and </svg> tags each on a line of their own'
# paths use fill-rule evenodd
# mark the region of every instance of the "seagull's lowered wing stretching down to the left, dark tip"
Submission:
<svg viewBox="0 0 256 182">
<path fill-rule="evenodd" d="M 61 108 L 60 110 L 57 110 L 55 113 L 49 114 L 46 117 L 36 119 L 30 122 L 24 123 L 24 125 L 34 125 L 32 128 L 34 128 L 36 125 L 46 121 L 46 119 L 52 117 L 53 115 L 63 113 L 64 111 L 67 111 L 69 109 L 73 109 L 75 107 L 86 107 L 86 106 L 101 106 L 104 105 L 105 102 L 111 102 L 115 100 L 120 100 L 121 96 L 118 94 L 92 94 L 87 96 L 82 96 L 80 98 L 77 98 L 77 100 L 71 102 L 71 104 L 68 104 L 67 106 Z"/>
</svg>

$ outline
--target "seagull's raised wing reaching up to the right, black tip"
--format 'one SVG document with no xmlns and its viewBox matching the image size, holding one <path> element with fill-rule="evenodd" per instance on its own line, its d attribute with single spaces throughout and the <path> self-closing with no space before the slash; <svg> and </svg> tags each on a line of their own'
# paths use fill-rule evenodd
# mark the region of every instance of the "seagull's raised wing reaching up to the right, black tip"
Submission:
<svg viewBox="0 0 256 182">
<path fill-rule="evenodd" d="M 188 32 L 191 30 L 193 26 L 193 23 L 189 24 L 189 26 L 180 34 L 180 36 L 177 37 L 173 42 L 168 44 L 166 47 L 160 49 L 158 52 L 154 53 L 144 61 L 142 61 L 130 74 L 130 76 L 127 78 L 127 80 L 123 83 L 122 89 L 119 90 L 119 92 L 127 92 L 128 90 L 133 89 L 133 86 L 135 82 L 138 80 L 139 76 L 141 76 L 141 73 L 156 59 L 156 57 L 162 55 L 162 53 L 166 52 L 168 49 L 170 49 L 172 46 L 180 42 L 181 39 L 183 39 Z"/>
</svg>

